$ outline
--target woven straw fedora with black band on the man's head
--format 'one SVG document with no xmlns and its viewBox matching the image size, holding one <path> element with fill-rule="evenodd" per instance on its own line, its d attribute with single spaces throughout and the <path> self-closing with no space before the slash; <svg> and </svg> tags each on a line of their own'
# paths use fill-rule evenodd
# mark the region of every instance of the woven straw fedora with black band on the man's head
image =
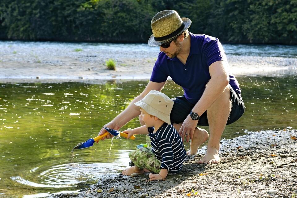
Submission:
<svg viewBox="0 0 297 198">
<path fill-rule="evenodd" d="M 153 34 L 149 38 L 149 46 L 159 46 L 174 37 L 179 36 L 191 25 L 188 18 L 180 18 L 175 10 L 164 10 L 158 12 L 151 21 Z"/>
</svg>

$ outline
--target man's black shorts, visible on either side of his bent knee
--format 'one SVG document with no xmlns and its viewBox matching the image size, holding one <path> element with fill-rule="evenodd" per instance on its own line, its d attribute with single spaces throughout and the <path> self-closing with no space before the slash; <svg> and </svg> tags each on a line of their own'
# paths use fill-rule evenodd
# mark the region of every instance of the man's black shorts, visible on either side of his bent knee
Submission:
<svg viewBox="0 0 297 198">
<path fill-rule="evenodd" d="M 227 121 L 227 125 L 234 123 L 236 120 L 238 120 L 242 116 L 245 110 L 241 95 L 235 92 L 230 85 L 229 87 L 230 87 L 230 101 L 232 102 L 232 107 Z M 188 102 L 186 97 L 184 96 L 175 97 L 175 98 L 172 98 L 172 100 L 174 101 L 174 105 L 171 110 L 170 121 L 171 123 L 177 123 L 177 124 L 182 123 L 190 114 L 190 111 L 193 109 L 195 104 Z M 197 125 L 209 126 L 206 112 L 207 111 L 205 111 L 200 116 Z"/>
</svg>

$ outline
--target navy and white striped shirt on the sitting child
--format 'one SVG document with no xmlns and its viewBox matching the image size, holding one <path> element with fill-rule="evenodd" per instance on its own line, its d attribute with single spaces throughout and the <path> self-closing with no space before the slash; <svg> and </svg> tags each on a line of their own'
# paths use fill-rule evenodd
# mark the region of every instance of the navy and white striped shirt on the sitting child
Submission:
<svg viewBox="0 0 297 198">
<path fill-rule="evenodd" d="M 154 127 L 149 127 L 148 130 L 153 153 L 162 162 L 161 169 L 167 169 L 172 174 L 178 173 L 187 156 L 179 133 L 172 124 L 167 123 L 162 124 L 155 133 Z"/>
</svg>

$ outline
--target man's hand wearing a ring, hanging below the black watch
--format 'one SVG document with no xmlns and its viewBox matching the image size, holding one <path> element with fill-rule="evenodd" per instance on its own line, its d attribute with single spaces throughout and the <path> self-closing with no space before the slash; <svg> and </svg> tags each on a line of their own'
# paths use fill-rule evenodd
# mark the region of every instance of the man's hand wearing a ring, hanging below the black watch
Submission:
<svg viewBox="0 0 297 198">
<path fill-rule="evenodd" d="M 184 136 L 186 136 L 187 142 L 189 142 L 189 140 L 193 138 L 197 123 L 198 120 L 192 120 L 190 115 L 187 116 L 187 118 L 183 121 L 183 124 L 179 129 L 179 135 L 182 137 L 182 140 Z"/>
</svg>

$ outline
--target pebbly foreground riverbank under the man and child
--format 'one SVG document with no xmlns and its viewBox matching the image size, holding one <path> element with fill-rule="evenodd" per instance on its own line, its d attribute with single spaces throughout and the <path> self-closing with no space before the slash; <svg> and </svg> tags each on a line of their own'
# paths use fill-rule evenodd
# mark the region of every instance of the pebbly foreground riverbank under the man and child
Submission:
<svg viewBox="0 0 297 198">
<path fill-rule="evenodd" d="M 247 132 L 222 140 L 221 163 L 216 165 L 194 163 L 206 152 L 203 147 L 196 155 L 187 157 L 179 174 L 169 175 L 165 181 L 150 182 L 148 173 L 136 177 L 106 175 L 77 194 L 49 197 L 295 197 L 297 130 L 288 128 Z"/>
</svg>

